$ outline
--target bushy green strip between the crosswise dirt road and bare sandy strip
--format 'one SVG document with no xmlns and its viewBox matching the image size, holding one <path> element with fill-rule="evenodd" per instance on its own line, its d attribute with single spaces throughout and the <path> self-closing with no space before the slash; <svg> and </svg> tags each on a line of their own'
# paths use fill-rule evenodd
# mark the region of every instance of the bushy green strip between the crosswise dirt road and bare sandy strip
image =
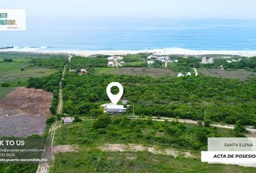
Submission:
<svg viewBox="0 0 256 173">
<path fill-rule="evenodd" d="M 193 150 L 207 150 L 209 137 L 234 137 L 233 130 L 200 127 L 176 122 L 131 120 L 127 117 L 101 115 L 98 120 L 61 126 L 56 133 L 56 145 L 100 143 L 140 143 Z"/>
</svg>

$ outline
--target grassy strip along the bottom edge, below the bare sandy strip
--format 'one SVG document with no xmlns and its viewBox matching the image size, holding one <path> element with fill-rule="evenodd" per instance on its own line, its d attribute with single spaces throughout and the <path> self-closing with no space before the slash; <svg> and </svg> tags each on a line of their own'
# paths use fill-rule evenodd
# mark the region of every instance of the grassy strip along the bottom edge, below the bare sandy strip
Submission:
<svg viewBox="0 0 256 173">
<path fill-rule="evenodd" d="M 155 155 L 142 152 L 84 150 L 57 154 L 51 172 L 255 172 L 254 168 L 202 163 L 200 159 Z"/>
</svg>

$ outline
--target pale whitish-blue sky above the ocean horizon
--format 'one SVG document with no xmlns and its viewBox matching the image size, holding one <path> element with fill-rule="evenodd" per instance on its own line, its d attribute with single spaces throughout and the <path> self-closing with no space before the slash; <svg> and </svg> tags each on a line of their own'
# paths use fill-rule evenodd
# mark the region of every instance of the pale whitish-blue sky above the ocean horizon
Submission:
<svg viewBox="0 0 256 173">
<path fill-rule="evenodd" d="M 31 18 L 256 19 L 255 6 L 255 0 L 8 0 L 0 9 L 26 9 Z"/>
</svg>

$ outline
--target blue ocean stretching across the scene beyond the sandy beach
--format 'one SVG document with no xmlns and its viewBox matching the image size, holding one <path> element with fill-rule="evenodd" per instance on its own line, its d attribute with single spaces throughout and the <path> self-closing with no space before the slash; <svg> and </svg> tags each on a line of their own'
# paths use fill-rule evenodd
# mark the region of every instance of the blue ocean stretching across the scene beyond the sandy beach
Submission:
<svg viewBox="0 0 256 173">
<path fill-rule="evenodd" d="M 256 20 L 27 19 L 0 32 L 0 47 L 38 50 L 256 50 Z"/>
</svg>

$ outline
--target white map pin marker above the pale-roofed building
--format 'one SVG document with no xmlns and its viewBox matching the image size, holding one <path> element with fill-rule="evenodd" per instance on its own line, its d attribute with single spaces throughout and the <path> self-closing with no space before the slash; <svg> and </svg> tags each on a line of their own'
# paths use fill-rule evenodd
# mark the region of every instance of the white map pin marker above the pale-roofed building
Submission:
<svg viewBox="0 0 256 173">
<path fill-rule="evenodd" d="M 117 86 L 119 88 L 119 93 L 118 94 L 112 94 L 111 93 L 111 88 L 113 86 Z M 111 100 L 111 102 L 116 105 L 117 102 L 119 102 L 119 99 L 121 99 L 121 96 L 124 93 L 124 88 L 123 86 L 121 86 L 121 84 L 119 82 L 111 82 L 110 84 L 108 84 L 107 88 L 106 88 L 106 92 L 108 94 L 108 98 Z"/>
</svg>

